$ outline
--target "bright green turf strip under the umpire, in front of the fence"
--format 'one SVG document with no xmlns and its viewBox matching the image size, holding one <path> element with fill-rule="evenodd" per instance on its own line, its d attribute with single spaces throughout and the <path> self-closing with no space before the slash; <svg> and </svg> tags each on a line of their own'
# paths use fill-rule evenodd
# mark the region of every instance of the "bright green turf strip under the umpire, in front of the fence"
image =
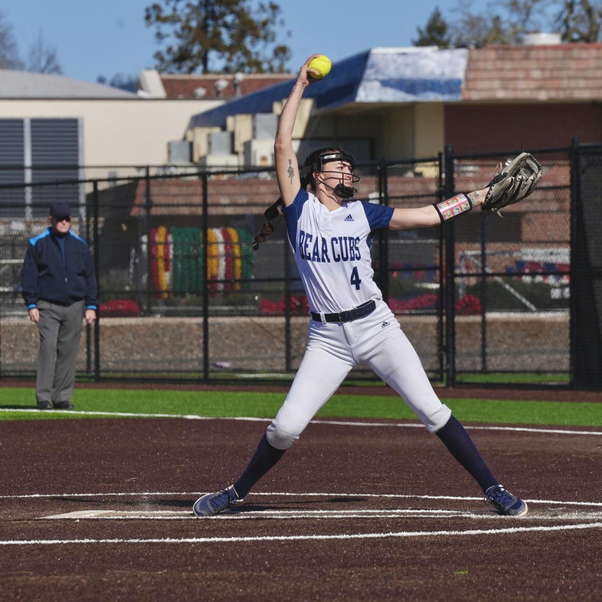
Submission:
<svg viewBox="0 0 602 602">
<path fill-rule="evenodd" d="M 549 426 L 602 426 L 602 404 L 545 402 L 525 399 L 447 399 L 454 415 L 462 421 L 496 424 Z M 78 414 L 23 412 L 33 409 L 31 388 L 0 388 L 0 420 L 56 420 L 93 418 Z M 208 417 L 259 417 L 276 415 L 285 399 L 282 393 L 241 391 L 147 391 L 143 389 L 76 389 L 73 403 L 78 411 L 131 412 L 134 414 L 177 414 Z M 335 395 L 318 412 L 322 418 L 392 418 L 416 420 L 412 411 L 395 396 Z M 98 416 L 103 418 L 103 416 Z"/>
</svg>

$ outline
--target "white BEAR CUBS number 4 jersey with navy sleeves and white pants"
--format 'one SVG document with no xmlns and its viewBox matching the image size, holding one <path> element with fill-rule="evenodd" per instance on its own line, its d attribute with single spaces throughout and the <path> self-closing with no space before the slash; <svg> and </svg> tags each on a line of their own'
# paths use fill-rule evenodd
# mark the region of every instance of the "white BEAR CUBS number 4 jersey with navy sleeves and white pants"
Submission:
<svg viewBox="0 0 602 602">
<path fill-rule="evenodd" d="M 267 428 L 270 445 L 290 447 L 359 362 L 397 391 L 430 432 L 439 430 L 452 412 L 439 401 L 372 279 L 371 232 L 389 225 L 393 209 L 354 201 L 329 211 L 301 188 L 282 213 L 309 308 L 321 320 L 309 322 L 305 356 L 284 405 Z M 323 319 L 370 300 L 376 309 L 365 317 L 344 323 Z"/>
</svg>

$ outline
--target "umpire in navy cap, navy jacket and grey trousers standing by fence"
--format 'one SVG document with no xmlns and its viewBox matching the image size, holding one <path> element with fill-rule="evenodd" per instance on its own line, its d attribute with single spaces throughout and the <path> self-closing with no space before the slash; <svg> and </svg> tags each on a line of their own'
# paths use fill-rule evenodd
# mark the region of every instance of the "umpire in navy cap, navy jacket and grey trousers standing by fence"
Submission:
<svg viewBox="0 0 602 602">
<path fill-rule="evenodd" d="M 69 205 L 53 203 L 48 222 L 29 240 L 21 288 L 40 332 L 37 406 L 72 409 L 82 314 L 88 324 L 96 320 L 96 277 L 87 243 L 70 230 Z"/>
</svg>

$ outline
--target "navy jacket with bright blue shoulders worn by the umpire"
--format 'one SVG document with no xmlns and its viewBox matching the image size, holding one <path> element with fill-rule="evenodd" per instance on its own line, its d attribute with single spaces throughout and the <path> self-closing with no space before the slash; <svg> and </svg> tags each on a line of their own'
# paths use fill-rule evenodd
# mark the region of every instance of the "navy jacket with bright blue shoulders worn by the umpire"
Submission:
<svg viewBox="0 0 602 602">
<path fill-rule="evenodd" d="M 87 243 L 69 230 L 65 255 L 50 227 L 29 240 L 21 289 L 27 309 L 42 299 L 59 305 L 85 300 L 86 309 L 98 309 L 96 277 Z"/>
</svg>

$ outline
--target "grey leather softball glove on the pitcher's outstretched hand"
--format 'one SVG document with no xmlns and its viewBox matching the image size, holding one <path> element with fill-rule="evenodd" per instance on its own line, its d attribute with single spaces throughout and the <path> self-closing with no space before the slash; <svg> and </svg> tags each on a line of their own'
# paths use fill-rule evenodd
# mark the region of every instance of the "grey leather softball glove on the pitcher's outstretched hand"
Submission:
<svg viewBox="0 0 602 602">
<path fill-rule="evenodd" d="M 500 164 L 498 168 L 500 173 L 489 182 L 489 190 L 481 205 L 481 209 L 490 215 L 529 196 L 542 175 L 539 161 L 528 152 L 521 152 L 511 161 L 506 161 L 503 167 Z"/>
</svg>

